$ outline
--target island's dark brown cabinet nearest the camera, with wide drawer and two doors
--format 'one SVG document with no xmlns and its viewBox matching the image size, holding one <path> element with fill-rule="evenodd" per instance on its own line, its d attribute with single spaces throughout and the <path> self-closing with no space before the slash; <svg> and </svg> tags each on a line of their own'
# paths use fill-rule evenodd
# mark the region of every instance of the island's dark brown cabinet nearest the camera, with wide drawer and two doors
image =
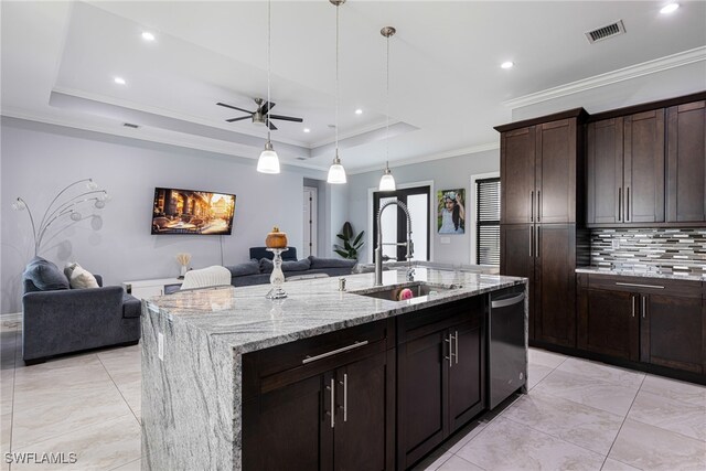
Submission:
<svg viewBox="0 0 706 471">
<path fill-rule="evenodd" d="M 243 468 L 394 469 L 392 330 L 381 321 L 244 356 Z"/>
</svg>

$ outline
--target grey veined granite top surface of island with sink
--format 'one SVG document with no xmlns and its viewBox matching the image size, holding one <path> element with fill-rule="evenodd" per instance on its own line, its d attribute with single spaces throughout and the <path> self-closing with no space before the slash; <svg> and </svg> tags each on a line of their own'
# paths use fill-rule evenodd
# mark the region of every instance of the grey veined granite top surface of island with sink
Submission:
<svg viewBox="0 0 706 471">
<path fill-rule="evenodd" d="M 346 291 L 339 291 L 338 278 L 289 281 L 288 297 L 269 300 L 269 285 L 221 287 L 180 291 L 143 301 L 143 307 L 172 321 L 183 321 L 216 336 L 236 354 L 243 354 L 399 315 L 435 304 L 520 285 L 525 278 L 439 270 L 417 267 L 415 281 L 459 288 L 407 301 L 388 301 L 352 291 L 370 290 L 374 274 L 349 275 Z M 383 285 L 404 285 L 405 270 L 383 272 Z"/>
</svg>

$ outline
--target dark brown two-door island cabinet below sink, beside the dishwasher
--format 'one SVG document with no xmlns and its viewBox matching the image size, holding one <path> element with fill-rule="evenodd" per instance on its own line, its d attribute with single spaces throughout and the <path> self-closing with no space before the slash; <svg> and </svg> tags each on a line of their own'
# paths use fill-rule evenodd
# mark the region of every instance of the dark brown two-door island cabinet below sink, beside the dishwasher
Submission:
<svg viewBox="0 0 706 471">
<path fill-rule="evenodd" d="M 484 407 L 483 297 L 400 319 L 397 467 L 424 458 Z"/>
</svg>

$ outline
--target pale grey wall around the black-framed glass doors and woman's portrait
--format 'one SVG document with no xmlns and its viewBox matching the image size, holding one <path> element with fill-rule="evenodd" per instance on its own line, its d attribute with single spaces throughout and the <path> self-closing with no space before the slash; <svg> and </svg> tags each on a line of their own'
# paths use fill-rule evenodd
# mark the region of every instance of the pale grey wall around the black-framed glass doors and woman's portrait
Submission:
<svg viewBox="0 0 706 471">
<path fill-rule="evenodd" d="M 499 138 L 500 139 L 500 138 Z M 489 150 L 449 159 L 434 160 L 410 165 L 391 167 L 395 182 L 400 184 L 434 181 L 434 191 L 448 189 L 466 189 L 466 206 L 472 204 L 469 188 L 471 175 L 500 171 L 500 150 Z M 349 215 L 355 232 L 366 231 L 366 244 L 363 248 L 362 261 L 372 261 L 373 234 L 367 233 L 372 221 L 368 207 L 368 189 L 377 189 L 379 171 L 349 175 Z M 442 264 L 469 264 L 471 260 L 470 218 L 467 218 L 466 234 L 445 235 L 450 244 L 441 244 L 437 234 L 436 194 L 431 195 L 431 260 Z M 468 208 L 467 208 L 468 212 Z M 470 214 L 467 216 L 470 217 Z"/>
</svg>

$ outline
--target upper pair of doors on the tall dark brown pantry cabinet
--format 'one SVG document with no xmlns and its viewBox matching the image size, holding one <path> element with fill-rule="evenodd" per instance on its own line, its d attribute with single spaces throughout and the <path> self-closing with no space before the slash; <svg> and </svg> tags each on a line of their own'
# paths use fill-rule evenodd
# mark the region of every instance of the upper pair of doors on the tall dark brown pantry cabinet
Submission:
<svg viewBox="0 0 706 471">
<path fill-rule="evenodd" d="M 567 114 L 570 115 L 570 114 Z M 575 223 L 577 116 L 501 130 L 501 223 Z M 548 118 L 550 119 L 550 118 Z"/>
</svg>

